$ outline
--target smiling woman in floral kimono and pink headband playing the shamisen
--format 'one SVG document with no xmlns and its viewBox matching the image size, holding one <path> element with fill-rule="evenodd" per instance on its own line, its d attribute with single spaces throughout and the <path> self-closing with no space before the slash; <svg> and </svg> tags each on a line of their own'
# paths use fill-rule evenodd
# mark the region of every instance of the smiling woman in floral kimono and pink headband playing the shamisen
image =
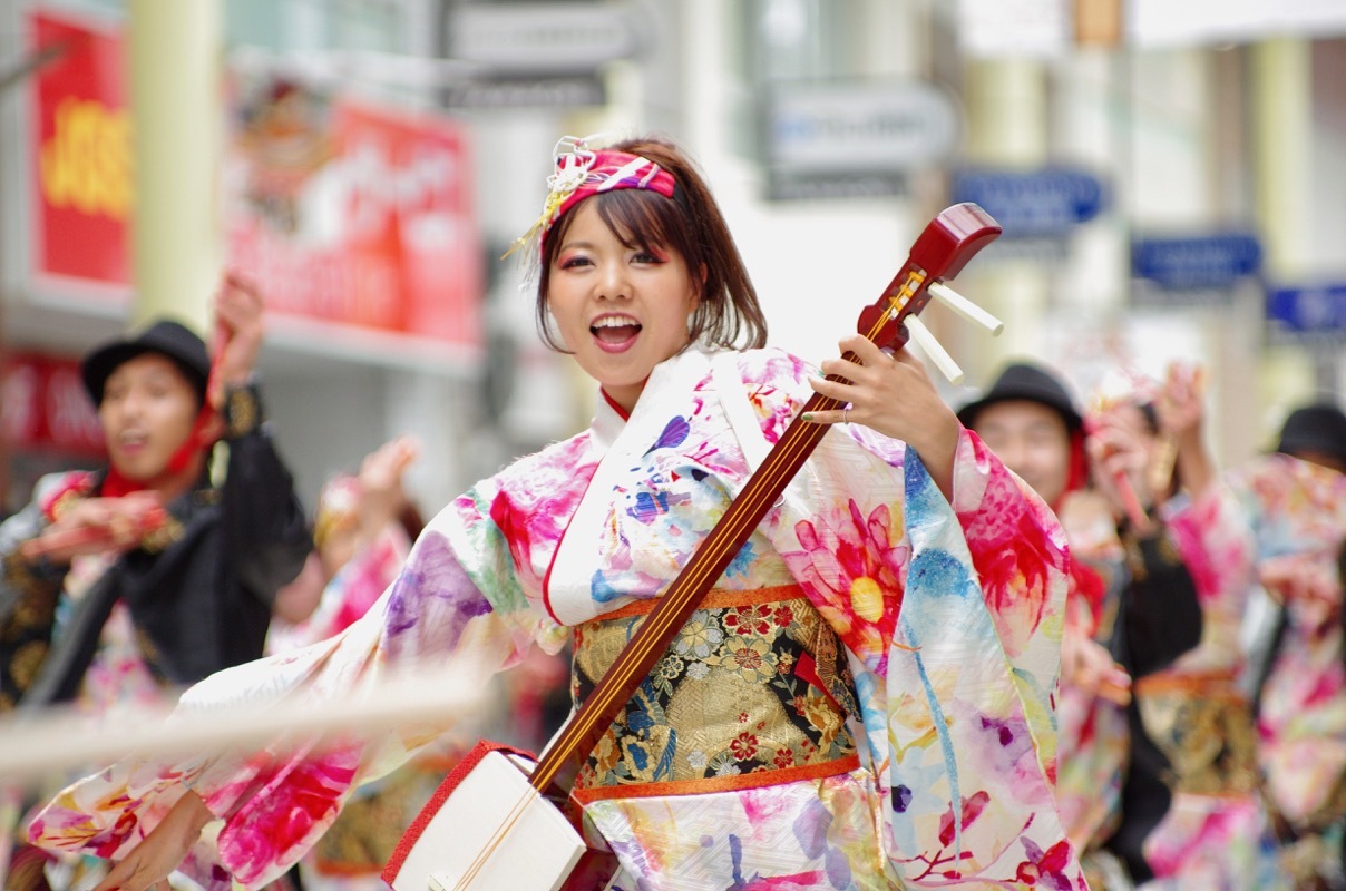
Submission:
<svg viewBox="0 0 1346 891">
<path fill-rule="evenodd" d="M 847 385 L 763 349 L 739 252 L 680 149 L 565 139 L 553 162 L 524 249 L 544 336 L 599 386 L 592 425 L 441 510 L 342 634 L 222 672 L 179 708 L 357 703 L 394 669 L 506 668 L 567 641 L 583 694 L 817 389 L 849 406 L 804 419 L 837 425 L 583 766 L 590 841 L 623 891 L 1082 891 L 1053 797 L 1054 514 L 906 350 L 843 339 L 859 363 L 821 373 Z M 128 759 L 31 834 L 118 861 L 100 891 L 179 864 L 207 888 L 258 887 L 354 786 L 432 742 L 425 724 Z"/>
</svg>

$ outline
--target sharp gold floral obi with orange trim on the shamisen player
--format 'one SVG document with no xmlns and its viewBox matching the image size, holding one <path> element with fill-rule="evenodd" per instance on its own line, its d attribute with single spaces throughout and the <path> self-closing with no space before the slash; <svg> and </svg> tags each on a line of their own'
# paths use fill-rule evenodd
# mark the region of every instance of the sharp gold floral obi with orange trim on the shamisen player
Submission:
<svg viewBox="0 0 1346 891">
<path fill-rule="evenodd" d="M 654 600 L 575 629 L 583 701 Z M 575 781 L 580 804 L 814 779 L 859 767 L 840 641 L 798 585 L 711 591 Z"/>
</svg>

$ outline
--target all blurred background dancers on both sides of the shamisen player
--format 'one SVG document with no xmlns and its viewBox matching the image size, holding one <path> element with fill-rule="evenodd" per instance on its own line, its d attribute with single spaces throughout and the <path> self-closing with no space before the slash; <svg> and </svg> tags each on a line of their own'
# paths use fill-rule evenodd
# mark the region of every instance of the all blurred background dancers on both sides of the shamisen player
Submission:
<svg viewBox="0 0 1346 891">
<path fill-rule="evenodd" d="M 85 357 L 109 460 L 44 478 L 0 525 L 0 713 L 71 704 L 97 727 L 171 701 L 341 633 L 401 571 L 424 522 L 417 444 L 353 456 L 306 511 L 253 369 L 262 295 L 229 277 L 214 310 L 209 346 L 163 320 Z M 956 406 L 1070 542 L 1057 790 L 1090 886 L 1346 888 L 1346 415 L 1303 405 L 1221 467 L 1201 367 L 1114 371 L 1077 393 L 1049 359 L 1015 361 Z M 567 664 L 502 676 L 483 732 L 544 746 Z M 362 789 L 287 882 L 381 887 L 462 743 Z M 81 887 L 81 863 L 22 832 L 69 779 L 3 791 L 7 888 Z"/>
</svg>

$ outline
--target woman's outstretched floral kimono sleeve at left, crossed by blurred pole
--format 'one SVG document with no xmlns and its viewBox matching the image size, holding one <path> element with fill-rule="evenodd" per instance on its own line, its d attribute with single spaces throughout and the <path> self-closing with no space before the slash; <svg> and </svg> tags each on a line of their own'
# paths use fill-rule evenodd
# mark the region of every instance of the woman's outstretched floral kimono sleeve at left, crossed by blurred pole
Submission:
<svg viewBox="0 0 1346 891">
<path fill-rule="evenodd" d="M 479 684 L 478 672 L 520 658 L 548 627 L 518 585 L 490 503 L 491 493 L 474 490 L 441 511 L 396 581 L 342 634 L 213 674 L 184 693 L 175 719 L 242 704 L 358 708 L 401 673 L 471 665 L 472 678 L 459 682 Z M 260 887 L 300 859 L 355 786 L 393 770 L 444 729 L 444 720 L 427 715 L 367 734 L 291 735 L 260 751 L 129 758 L 63 790 L 30 836 L 42 847 L 120 859 L 190 787 L 221 822 L 207 828 L 183 872 L 207 888 L 232 880 Z"/>
</svg>

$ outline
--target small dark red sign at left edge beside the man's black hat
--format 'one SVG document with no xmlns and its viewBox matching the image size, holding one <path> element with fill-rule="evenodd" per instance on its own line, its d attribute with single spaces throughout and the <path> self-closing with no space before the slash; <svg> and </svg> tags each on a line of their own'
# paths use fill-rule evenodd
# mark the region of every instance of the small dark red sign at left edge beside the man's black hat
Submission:
<svg viewBox="0 0 1346 891">
<path fill-rule="evenodd" d="M 12 448 L 105 455 L 102 425 L 79 378 L 78 361 L 39 354 L 5 357 L 0 396 L 0 436 Z"/>
</svg>

